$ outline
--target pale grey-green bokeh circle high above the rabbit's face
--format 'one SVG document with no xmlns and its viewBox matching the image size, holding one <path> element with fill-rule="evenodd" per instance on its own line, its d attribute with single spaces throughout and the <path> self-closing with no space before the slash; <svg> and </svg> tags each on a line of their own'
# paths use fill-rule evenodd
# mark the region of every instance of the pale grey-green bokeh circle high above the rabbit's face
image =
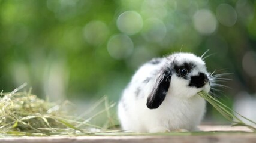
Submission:
<svg viewBox="0 0 256 143">
<path fill-rule="evenodd" d="M 215 15 L 207 9 L 198 10 L 193 16 L 194 27 L 202 35 L 210 35 L 217 28 Z"/>
</svg>

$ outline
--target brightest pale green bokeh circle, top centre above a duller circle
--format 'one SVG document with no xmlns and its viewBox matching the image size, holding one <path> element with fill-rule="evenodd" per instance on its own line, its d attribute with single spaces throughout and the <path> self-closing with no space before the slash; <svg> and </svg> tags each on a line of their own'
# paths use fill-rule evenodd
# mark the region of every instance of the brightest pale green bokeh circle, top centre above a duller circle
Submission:
<svg viewBox="0 0 256 143">
<path fill-rule="evenodd" d="M 143 20 L 136 11 L 125 11 L 119 15 L 116 25 L 121 32 L 134 35 L 142 29 Z"/>
</svg>

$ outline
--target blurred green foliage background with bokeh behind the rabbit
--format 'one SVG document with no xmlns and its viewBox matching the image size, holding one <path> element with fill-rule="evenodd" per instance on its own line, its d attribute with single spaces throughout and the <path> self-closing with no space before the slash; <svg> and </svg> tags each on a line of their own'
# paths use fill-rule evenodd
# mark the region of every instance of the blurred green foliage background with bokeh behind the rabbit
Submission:
<svg viewBox="0 0 256 143">
<path fill-rule="evenodd" d="M 0 46 L 5 92 L 27 82 L 41 97 L 78 104 L 118 101 L 150 58 L 210 49 L 208 70 L 233 73 L 221 99 L 256 119 L 253 0 L 0 0 Z"/>
</svg>

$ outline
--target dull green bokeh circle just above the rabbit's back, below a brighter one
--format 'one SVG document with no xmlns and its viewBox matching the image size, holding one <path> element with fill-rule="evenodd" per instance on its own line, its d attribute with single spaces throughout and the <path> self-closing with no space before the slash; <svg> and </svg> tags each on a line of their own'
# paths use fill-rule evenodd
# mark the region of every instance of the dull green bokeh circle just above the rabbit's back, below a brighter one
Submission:
<svg viewBox="0 0 256 143">
<path fill-rule="evenodd" d="M 112 36 L 107 43 L 107 51 L 111 57 L 117 60 L 129 57 L 133 49 L 134 45 L 131 38 L 124 34 Z"/>
</svg>

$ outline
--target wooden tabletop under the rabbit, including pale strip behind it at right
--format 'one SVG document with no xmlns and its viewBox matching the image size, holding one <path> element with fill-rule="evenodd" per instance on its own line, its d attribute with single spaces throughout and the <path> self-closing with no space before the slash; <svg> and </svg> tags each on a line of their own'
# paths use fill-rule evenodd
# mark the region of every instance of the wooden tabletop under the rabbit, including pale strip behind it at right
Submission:
<svg viewBox="0 0 256 143">
<path fill-rule="evenodd" d="M 143 136 L 78 136 L 78 137 L 7 137 L 0 138 L 1 143 L 34 143 L 34 142 L 48 142 L 48 143 L 57 143 L 57 142 L 70 142 L 70 143 L 82 143 L 82 142 L 104 142 L 104 143 L 115 143 L 115 142 L 141 142 L 141 143 L 161 143 L 161 142 L 172 142 L 172 143 L 182 143 L 182 142 L 231 142 L 231 143 L 247 143 L 247 142 L 256 142 L 256 133 L 250 133 L 250 130 L 244 127 L 230 127 L 230 126 L 200 126 L 202 131 L 216 131 L 216 133 L 206 133 L 206 134 L 192 134 L 192 135 L 143 135 Z M 225 133 L 222 131 L 233 131 L 233 133 Z M 244 131 L 236 132 L 236 131 Z"/>
</svg>

